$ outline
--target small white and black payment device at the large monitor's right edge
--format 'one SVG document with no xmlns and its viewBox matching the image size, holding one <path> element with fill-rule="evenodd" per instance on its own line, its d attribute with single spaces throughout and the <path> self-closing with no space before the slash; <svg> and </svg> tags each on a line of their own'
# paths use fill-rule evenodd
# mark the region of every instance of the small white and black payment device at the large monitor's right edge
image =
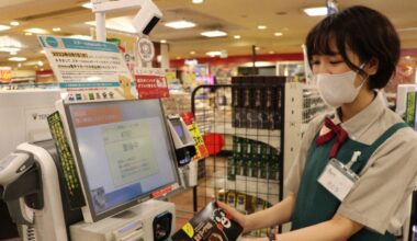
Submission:
<svg viewBox="0 0 417 241">
<path fill-rule="evenodd" d="M 195 161 L 192 161 L 196 153 L 194 139 L 179 115 L 168 116 L 168 126 L 176 147 L 181 185 L 183 187 L 195 186 L 198 165 Z"/>
</svg>

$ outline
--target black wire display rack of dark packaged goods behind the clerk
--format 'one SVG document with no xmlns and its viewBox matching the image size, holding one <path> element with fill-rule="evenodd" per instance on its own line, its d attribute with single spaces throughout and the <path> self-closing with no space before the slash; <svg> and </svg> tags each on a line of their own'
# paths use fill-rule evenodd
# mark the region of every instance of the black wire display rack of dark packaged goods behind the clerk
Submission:
<svg viewBox="0 0 417 241">
<path fill-rule="evenodd" d="M 233 84 L 200 85 L 193 91 L 192 111 L 205 145 L 221 150 L 201 161 L 199 172 L 204 174 L 194 188 L 194 210 L 219 199 L 252 213 L 285 196 L 283 181 L 306 123 L 328 110 L 314 88 L 289 81 L 285 77 L 236 77 Z M 224 145 L 212 138 L 215 134 L 224 137 Z"/>
</svg>

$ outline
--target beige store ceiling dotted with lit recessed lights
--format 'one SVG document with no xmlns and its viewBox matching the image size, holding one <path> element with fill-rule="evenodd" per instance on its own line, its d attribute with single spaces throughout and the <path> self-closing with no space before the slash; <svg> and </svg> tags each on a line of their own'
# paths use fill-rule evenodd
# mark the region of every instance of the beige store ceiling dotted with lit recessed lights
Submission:
<svg viewBox="0 0 417 241">
<path fill-rule="evenodd" d="M 19 21 L 19 26 L 0 32 L 22 44 L 16 56 L 26 57 L 26 62 L 45 59 L 36 36 L 26 36 L 24 31 L 40 27 L 47 34 L 90 35 L 93 21 L 91 10 L 81 7 L 80 0 L 0 0 L 0 24 Z M 324 5 L 325 0 L 205 0 L 193 4 L 191 0 L 154 0 L 164 18 L 150 33 L 155 42 L 167 39 L 170 58 L 206 57 L 205 53 L 226 50 L 228 56 L 250 55 L 251 46 L 258 54 L 300 53 L 307 31 L 322 16 L 307 16 L 301 9 Z M 386 14 L 397 28 L 403 48 L 417 48 L 417 0 L 339 0 L 340 8 L 363 4 Z M 116 11 L 106 19 L 133 18 L 138 10 Z M 165 22 L 188 20 L 196 23 L 193 28 L 172 30 Z M 258 30 L 258 25 L 267 26 Z M 53 32 L 60 27 L 60 32 Z M 200 35 L 207 30 L 222 30 L 226 37 L 206 38 Z M 282 36 L 274 36 L 281 32 Z M 234 35 L 240 35 L 235 39 Z M 0 53 L 0 66 L 13 66 L 8 61 L 9 53 Z M 30 66 L 30 65 L 26 65 Z"/>
</svg>

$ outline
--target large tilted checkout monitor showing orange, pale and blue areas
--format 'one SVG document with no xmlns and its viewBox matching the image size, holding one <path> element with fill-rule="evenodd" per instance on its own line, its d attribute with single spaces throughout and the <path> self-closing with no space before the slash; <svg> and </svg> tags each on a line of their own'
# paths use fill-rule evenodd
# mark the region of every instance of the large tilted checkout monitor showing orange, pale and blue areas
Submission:
<svg viewBox="0 0 417 241">
<path fill-rule="evenodd" d="M 93 219 L 177 182 L 158 100 L 70 104 L 68 114 Z"/>
</svg>

